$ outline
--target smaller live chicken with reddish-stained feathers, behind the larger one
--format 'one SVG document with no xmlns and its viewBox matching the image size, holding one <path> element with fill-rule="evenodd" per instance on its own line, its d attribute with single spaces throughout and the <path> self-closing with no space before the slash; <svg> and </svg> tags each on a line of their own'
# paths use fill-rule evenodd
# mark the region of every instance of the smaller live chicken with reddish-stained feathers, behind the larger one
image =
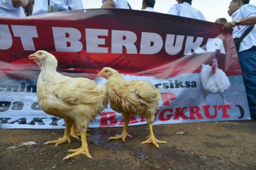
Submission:
<svg viewBox="0 0 256 170">
<path fill-rule="evenodd" d="M 150 135 L 146 141 L 141 144 L 153 143 L 159 148 L 157 143 L 165 144 L 165 141 L 159 141 L 153 133 L 153 122 L 155 113 L 159 104 L 160 92 L 157 88 L 147 81 L 130 80 L 126 81 L 118 71 L 113 68 L 103 68 L 98 76 L 108 80 L 109 103 L 113 110 L 122 113 L 124 127 L 121 135 L 110 137 L 110 139 L 119 139 L 123 141 L 131 137 L 127 133 L 127 127 L 130 121 L 130 114 L 140 115 L 146 118 Z"/>
</svg>

